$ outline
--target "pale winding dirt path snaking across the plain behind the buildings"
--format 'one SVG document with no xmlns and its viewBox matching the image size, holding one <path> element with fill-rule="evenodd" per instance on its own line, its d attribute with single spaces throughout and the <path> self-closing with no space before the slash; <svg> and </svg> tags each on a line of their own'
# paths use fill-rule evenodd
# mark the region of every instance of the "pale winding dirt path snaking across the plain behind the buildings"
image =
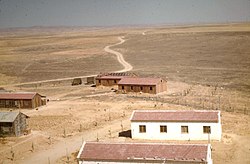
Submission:
<svg viewBox="0 0 250 164">
<path fill-rule="evenodd" d="M 110 49 L 110 47 L 123 44 L 126 41 L 123 38 L 124 37 L 118 37 L 118 39 L 120 40 L 119 43 L 109 45 L 109 46 L 106 46 L 104 48 L 104 51 L 106 51 L 108 53 L 111 53 L 111 54 L 115 54 L 117 56 L 118 62 L 121 63 L 124 66 L 124 69 L 122 69 L 120 71 L 116 71 L 116 72 L 127 72 L 127 71 L 131 71 L 133 69 L 133 66 L 124 60 L 123 55 L 120 52 L 117 52 L 117 51 L 114 51 L 114 50 Z"/>
</svg>

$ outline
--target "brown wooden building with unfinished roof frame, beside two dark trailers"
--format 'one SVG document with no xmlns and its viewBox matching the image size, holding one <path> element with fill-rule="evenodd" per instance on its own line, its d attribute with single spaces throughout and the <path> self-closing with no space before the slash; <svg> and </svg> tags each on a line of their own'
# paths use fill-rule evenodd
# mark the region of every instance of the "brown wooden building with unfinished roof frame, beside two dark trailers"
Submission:
<svg viewBox="0 0 250 164">
<path fill-rule="evenodd" d="M 118 82 L 124 77 L 134 77 L 135 74 L 131 73 L 103 73 L 96 77 L 96 86 L 114 86 L 118 85 Z"/>
</svg>

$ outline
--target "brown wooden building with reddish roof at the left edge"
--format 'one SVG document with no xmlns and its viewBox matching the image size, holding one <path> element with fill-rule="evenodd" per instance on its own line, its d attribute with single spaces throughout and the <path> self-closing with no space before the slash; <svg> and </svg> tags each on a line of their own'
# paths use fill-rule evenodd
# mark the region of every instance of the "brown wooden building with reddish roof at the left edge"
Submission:
<svg viewBox="0 0 250 164">
<path fill-rule="evenodd" d="M 46 97 L 36 92 L 0 92 L 0 108 L 36 108 L 46 105 Z"/>
</svg>

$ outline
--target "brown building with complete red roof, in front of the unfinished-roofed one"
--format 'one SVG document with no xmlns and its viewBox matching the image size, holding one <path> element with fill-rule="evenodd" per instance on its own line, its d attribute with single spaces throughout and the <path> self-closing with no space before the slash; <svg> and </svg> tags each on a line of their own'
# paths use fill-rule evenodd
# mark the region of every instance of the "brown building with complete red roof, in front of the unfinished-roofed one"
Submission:
<svg viewBox="0 0 250 164">
<path fill-rule="evenodd" d="M 167 90 L 167 82 L 161 78 L 122 78 L 118 83 L 121 92 L 143 92 L 157 94 Z"/>
</svg>

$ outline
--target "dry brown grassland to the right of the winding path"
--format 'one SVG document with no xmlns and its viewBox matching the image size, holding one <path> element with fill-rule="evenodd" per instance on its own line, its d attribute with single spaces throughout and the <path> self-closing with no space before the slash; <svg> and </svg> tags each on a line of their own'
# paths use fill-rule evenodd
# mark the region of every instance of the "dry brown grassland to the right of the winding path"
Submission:
<svg viewBox="0 0 250 164">
<path fill-rule="evenodd" d="M 150 31 L 145 36 L 131 35 L 128 40 L 117 49 L 137 72 L 250 93 L 250 30 L 156 34 Z"/>
</svg>

